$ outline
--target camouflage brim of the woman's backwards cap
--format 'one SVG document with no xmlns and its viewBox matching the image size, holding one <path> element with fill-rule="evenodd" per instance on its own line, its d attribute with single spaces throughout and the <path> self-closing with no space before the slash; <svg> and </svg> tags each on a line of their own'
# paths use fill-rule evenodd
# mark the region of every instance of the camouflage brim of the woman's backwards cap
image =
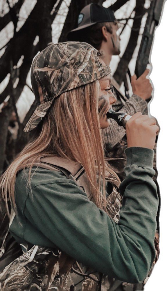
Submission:
<svg viewBox="0 0 167 291">
<path fill-rule="evenodd" d="M 37 106 L 33 115 L 30 117 L 26 126 L 24 127 L 24 132 L 29 132 L 37 127 L 39 122 L 45 117 L 47 111 L 51 107 L 53 100 L 47 101 Z"/>
</svg>

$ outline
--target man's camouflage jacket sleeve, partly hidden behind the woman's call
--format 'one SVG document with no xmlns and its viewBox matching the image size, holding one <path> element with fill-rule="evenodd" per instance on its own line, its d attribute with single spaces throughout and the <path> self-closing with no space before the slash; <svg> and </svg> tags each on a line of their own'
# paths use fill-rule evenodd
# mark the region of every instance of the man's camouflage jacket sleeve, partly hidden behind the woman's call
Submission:
<svg viewBox="0 0 167 291">
<path fill-rule="evenodd" d="M 147 105 L 148 104 L 145 100 L 133 94 L 118 112 L 126 112 L 129 115 L 134 115 L 138 111 L 143 113 L 143 111 L 147 108 Z M 125 133 L 125 128 L 118 125 L 115 120 L 110 118 L 109 127 L 102 129 L 103 139 L 107 145 L 107 148 L 109 146 L 109 148 L 112 149 L 113 146 L 123 138 Z"/>
</svg>

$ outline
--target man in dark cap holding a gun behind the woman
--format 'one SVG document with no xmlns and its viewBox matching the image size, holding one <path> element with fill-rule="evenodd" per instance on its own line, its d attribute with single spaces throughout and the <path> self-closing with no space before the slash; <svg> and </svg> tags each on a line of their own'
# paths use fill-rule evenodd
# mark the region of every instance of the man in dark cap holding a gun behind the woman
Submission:
<svg viewBox="0 0 167 291">
<path fill-rule="evenodd" d="M 78 28 L 68 33 L 68 39 L 88 42 L 103 55 L 103 61 L 109 65 L 113 55 L 120 54 L 120 38 L 117 35 L 118 22 L 111 8 L 105 8 L 95 3 L 85 6 L 78 17 Z M 117 98 L 112 106 L 115 111 L 133 115 L 137 111 L 143 113 L 147 109 L 146 100 L 150 98 L 152 86 L 146 79 L 149 70 L 146 70 L 138 79 L 131 78 L 133 95 L 129 99 L 122 95 L 118 83 L 112 78 L 112 91 Z M 125 129 L 111 120 L 110 127 L 103 130 L 106 157 L 114 171 L 123 180 L 123 169 L 126 164 L 124 150 L 127 146 Z"/>
</svg>

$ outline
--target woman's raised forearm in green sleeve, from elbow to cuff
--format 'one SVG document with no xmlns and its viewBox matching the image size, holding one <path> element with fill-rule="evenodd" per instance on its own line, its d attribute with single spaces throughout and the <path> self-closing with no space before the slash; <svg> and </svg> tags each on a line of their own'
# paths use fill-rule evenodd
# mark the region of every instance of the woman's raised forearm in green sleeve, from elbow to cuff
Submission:
<svg viewBox="0 0 167 291">
<path fill-rule="evenodd" d="M 155 173 L 152 168 L 153 150 L 133 147 L 125 152 L 126 177 L 120 185 L 123 206 L 118 226 L 134 263 L 134 273 L 136 271 L 139 281 L 142 281 L 155 259 L 158 196 L 157 187 L 152 180 Z"/>
</svg>

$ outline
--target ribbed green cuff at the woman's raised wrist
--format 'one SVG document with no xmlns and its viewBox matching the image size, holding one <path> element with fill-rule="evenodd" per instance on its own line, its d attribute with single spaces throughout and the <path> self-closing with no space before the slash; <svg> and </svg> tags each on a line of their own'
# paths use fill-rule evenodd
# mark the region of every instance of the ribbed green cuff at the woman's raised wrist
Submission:
<svg viewBox="0 0 167 291">
<path fill-rule="evenodd" d="M 153 168 L 154 151 L 149 148 L 131 147 L 125 150 L 127 166 L 132 164 L 138 167 Z"/>
</svg>

